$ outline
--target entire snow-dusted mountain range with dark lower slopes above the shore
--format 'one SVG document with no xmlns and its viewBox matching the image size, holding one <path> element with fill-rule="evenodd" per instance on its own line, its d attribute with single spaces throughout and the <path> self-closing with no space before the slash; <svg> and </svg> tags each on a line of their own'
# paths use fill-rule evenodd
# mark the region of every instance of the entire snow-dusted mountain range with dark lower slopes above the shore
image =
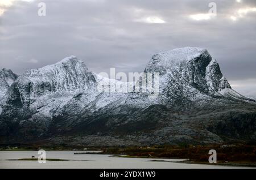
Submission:
<svg viewBox="0 0 256 180">
<path fill-rule="evenodd" d="M 206 49 L 152 56 L 159 95 L 100 92 L 77 57 L 18 76 L 0 71 L 0 144 L 152 145 L 256 140 L 255 100 L 232 89 Z"/>
</svg>

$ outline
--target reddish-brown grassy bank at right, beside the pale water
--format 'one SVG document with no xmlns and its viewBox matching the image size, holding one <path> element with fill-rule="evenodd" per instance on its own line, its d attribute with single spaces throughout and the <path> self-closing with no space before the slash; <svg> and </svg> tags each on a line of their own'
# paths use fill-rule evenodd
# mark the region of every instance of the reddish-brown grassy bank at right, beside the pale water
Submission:
<svg viewBox="0 0 256 180">
<path fill-rule="evenodd" d="M 256 145 L 186 145 L 130 148 L 106 148 L 105 154 L 122 157 L 185 158 L 188 162 L 207 163 L 209 150 L 217 151 L 217 164 L 248 164 L 256 166 Z"/>
</svg>

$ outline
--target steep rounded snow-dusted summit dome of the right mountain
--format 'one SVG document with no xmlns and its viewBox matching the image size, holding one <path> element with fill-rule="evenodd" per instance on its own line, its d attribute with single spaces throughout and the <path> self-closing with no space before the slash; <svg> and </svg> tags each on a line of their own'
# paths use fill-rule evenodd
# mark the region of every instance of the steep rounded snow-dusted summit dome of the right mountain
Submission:
<svg viewBox="0 0 256 180">
<path fill-rule="evenodd" d="M 187 47 L 155 54 L 145 72 L 159 72 L 167 83 L 171 81 L 168 85 L 181 84 L 208 95 L 231 88 L 217 61 L 212 59 L 206 49 Z"/>
</svg>

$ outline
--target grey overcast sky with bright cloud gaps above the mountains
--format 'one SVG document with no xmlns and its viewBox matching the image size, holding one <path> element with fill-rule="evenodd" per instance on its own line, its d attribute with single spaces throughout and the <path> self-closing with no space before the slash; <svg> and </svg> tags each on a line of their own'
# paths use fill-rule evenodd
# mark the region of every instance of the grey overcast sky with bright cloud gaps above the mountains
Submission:
<svg viewBox="0 0 256 180">
<path fill-rule="evenodd" d="M 16 74 L 69 55 L 94 72 L 142 72 L 183 46 L 208 49 L 232 87 L 256 97 L 255 0 L 0 0 L 0 67 Z"/>
</svg>

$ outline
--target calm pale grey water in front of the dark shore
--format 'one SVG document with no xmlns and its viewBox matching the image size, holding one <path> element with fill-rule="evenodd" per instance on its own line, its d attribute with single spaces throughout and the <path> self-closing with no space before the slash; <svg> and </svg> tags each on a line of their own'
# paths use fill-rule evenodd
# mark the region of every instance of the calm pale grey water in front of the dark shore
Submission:
<svg viewBox="0 0 256 180">
<path fill-rule="evenodd" d="M 217 165 L 185 164 L 177 159 L 153 158 L 124 158 L 109 157 L 109 155 L 74 155 L 83 151 L 47 151 L 46 158 L 59 158 L 73 161 L 47 161 L 39 164 L 38 161 L 7 161 L 10 159 L 37 158 L 37 151 L 0 151 L 0 168 L 238 168 Z M 166 160 L 172 162 L 152 162 L 150 160 Z"/>
</svg>

